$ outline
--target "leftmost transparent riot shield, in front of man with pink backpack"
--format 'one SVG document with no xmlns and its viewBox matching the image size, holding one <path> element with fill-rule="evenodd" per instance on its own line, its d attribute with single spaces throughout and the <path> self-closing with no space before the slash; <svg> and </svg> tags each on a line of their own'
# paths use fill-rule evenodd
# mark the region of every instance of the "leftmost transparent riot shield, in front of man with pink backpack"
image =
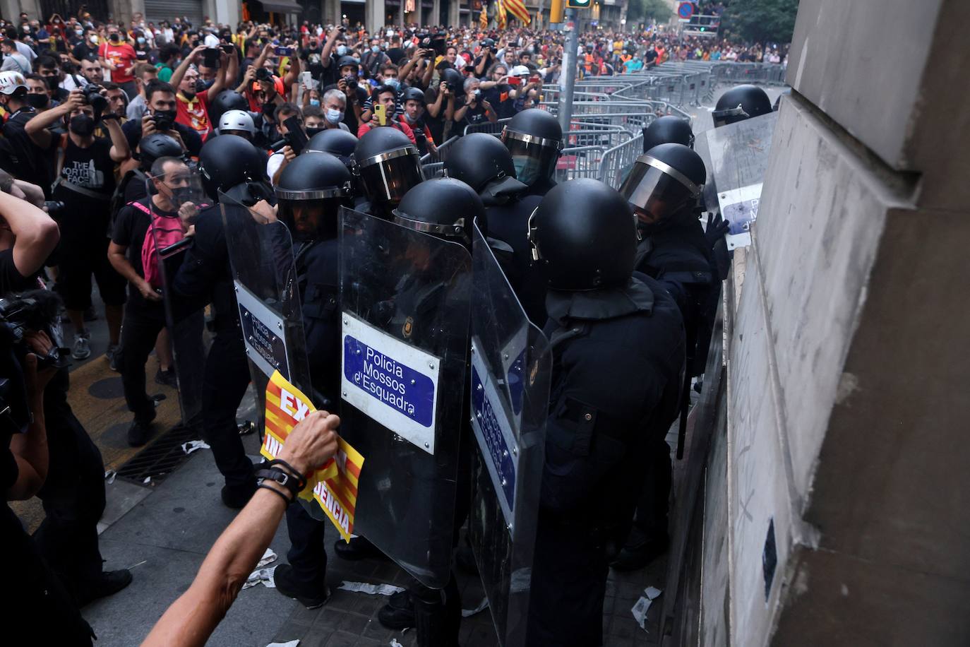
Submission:
<svg viewBox="0 0 970 647">
<path fill-rule="evenodd" d="M 181 424 L 199 427 L 208 347 L 205 304 L 186 306 L 171 283 L 192 243 L 195 221 L 200 211 L 211 208 L 212 201 L 202 189 L 198 171 L 181 162 L 166 165 L 166 173 L 146 178 L 146 184 L 148 194 L 155 197 L 148 201 L 150 240 L 142 247 L 142 268 L 146 281 L 164 302 Z"/>
</svg>

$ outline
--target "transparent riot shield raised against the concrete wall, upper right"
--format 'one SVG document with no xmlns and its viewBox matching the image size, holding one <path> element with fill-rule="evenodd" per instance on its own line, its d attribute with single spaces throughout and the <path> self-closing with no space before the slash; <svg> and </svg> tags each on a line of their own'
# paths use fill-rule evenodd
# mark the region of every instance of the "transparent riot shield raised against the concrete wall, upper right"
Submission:
<svg viewBox="0 0 970 647">
<path fill-rule="evenodd" d="M 778 113 L 762 114 L 697 137 L 697 152 L 707 165 L 704 202 L 730 221 L 727 248 L 751 244 L 751 225 L 758 218 L 761 182 L 768 167 L 771 136 Z"/>
</svg>

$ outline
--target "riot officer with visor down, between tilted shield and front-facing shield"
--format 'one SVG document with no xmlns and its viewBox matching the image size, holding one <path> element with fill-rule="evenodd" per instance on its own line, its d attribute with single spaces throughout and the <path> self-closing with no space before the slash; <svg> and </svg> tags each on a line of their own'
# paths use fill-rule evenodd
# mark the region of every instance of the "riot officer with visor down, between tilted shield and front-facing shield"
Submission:
<svg viewBox="0 0 970 647">
<path fill-rule="evenodd" d="M 308 154 L 286 165 L 275 188 L 277 216 L 293 239 L 314 404 L 331 411 L 339 404 L 340 384 L 339 209 L 350 205 L 350 180 L 333 155 Z M 329 596 L 323 545 L 328 523 L 313 519 L 300 505 L 286 510 L 289 564 L 276 567 L 276 589 L 307 608 Z"/>
</svg>

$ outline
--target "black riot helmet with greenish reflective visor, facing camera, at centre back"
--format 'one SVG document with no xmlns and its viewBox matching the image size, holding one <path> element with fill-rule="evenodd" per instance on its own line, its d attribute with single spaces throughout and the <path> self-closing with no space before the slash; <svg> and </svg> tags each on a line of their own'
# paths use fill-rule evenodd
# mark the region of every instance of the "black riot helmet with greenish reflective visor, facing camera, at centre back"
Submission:
<svg viewBox="0 0 970 647">
<path fill-rule="evenodd" d="M 512 155 L 515 177 L 532 186 L 555 173 L 563 149 L 563 128 L 551 113 L 530 108 L 505 124 L 501 141 Z"/>
</svg>

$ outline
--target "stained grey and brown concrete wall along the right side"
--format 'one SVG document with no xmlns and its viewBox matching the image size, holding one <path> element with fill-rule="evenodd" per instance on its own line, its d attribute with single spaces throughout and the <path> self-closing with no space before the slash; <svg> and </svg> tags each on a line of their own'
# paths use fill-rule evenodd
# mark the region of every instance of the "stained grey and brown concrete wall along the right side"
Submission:
<svg viewBox="0 0 970 647">
<path fill-rule="evenodd" d="M 970 644 L 968 19 L 801 1 L 728 327 L 705 644 Z"/>
</svg>

